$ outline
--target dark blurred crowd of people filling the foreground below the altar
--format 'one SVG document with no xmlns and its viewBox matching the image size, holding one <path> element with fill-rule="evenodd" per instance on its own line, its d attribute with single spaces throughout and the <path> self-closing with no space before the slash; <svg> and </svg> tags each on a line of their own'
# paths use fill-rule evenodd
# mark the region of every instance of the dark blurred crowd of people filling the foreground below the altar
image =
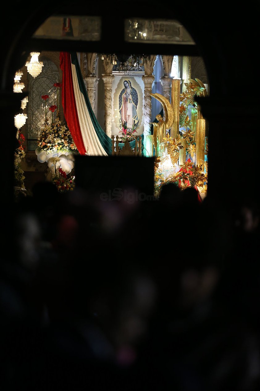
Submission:
<svg viewBox="0 0 260 391">
<path fill-rule="evenodd" d="M 37 183 L 1 264 L 1 390 L 260 389 L 259 204 Z"/>
</svg>

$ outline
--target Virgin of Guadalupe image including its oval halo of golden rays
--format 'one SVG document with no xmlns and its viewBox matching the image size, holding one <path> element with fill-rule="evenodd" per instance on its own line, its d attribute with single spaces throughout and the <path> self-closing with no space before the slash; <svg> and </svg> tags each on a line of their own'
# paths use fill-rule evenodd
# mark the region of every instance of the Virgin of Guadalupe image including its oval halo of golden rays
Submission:
<svg viewBox="0 0 260 391">
<path fill-rule="evenodd" d="M 131 133 L 141 134 L 143 119 L 143 91 L 134 77 L 121 77 L 113 97 L 115 126 L 119 132 L 122 128 Z"/>
</svg>

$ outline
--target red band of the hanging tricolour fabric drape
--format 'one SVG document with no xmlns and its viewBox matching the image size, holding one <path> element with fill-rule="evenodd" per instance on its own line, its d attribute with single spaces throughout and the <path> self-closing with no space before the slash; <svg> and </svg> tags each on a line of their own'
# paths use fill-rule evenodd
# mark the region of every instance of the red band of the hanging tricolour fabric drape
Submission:
<svg viewBox="0 0 260 391">
<path fill-rule="evenodd" d="M 78 111 L 73 88 L 71 55 L 67 52 L 60 52 L 60 69 L 62 70 L 63 74 L 62 107 L 64 110 L 64 117 L 79 153 L 81 155 L 85 155 L 86 149 L 84 147 L 83 139 L 81 136 L 81 129 L 78 120 Z"/>
</svg>

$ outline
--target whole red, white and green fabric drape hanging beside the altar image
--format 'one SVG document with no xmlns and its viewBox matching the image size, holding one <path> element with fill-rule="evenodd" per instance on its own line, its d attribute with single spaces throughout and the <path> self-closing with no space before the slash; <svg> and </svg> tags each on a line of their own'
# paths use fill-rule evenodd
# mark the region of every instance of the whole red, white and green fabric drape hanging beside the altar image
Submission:
<svg viewBox="0 0 260 391">
<path fill-rule="evenodd" d="M 108 156 L 112 141 L 92 110 L 76 53 L 60 52 L 62 106 L 67 126 L 81 155 Z"/>
</svg>

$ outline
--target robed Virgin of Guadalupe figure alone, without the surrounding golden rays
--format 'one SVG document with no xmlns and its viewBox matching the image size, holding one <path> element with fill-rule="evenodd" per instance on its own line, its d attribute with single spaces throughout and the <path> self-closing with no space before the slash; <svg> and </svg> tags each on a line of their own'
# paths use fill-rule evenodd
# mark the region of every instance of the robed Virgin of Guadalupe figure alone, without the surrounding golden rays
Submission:
<svg viewBox="0 0 260 391">
<path fill-rule="evenodd" d="M 119 121 L 121 129 L 132 131 L 138 127 L 140 118 L 137 113 L 138 93 L 130 80 L 124 80 L 124 88 L 119 94 Z"/>
</svg>

